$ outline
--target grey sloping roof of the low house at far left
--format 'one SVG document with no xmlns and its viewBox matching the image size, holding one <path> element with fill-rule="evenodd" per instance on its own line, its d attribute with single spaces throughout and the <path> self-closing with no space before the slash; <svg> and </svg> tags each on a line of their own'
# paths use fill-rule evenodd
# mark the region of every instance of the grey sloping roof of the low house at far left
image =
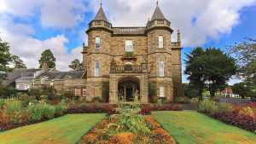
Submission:
<svg viewBox="0 0 256 144">
<path fill-rule="evenodd" d="M 32 69 L 24 69 L 24 68 L 14 69 L 12 72 L 8 73 L 7 80 L 3 81 L 3 85 L 7 86 L 10 84 L 14 84 L 16 79 L 21 78 L 21 73 L 23 76 L 24 76 L 24 74 L 25 74 L 25 76 L 29 76 L 29 75 L 31 75 L 31 73 L 38 72 L 41 70 L 42 69 L 33 69 L 33 68 Z"/>
</svg>

